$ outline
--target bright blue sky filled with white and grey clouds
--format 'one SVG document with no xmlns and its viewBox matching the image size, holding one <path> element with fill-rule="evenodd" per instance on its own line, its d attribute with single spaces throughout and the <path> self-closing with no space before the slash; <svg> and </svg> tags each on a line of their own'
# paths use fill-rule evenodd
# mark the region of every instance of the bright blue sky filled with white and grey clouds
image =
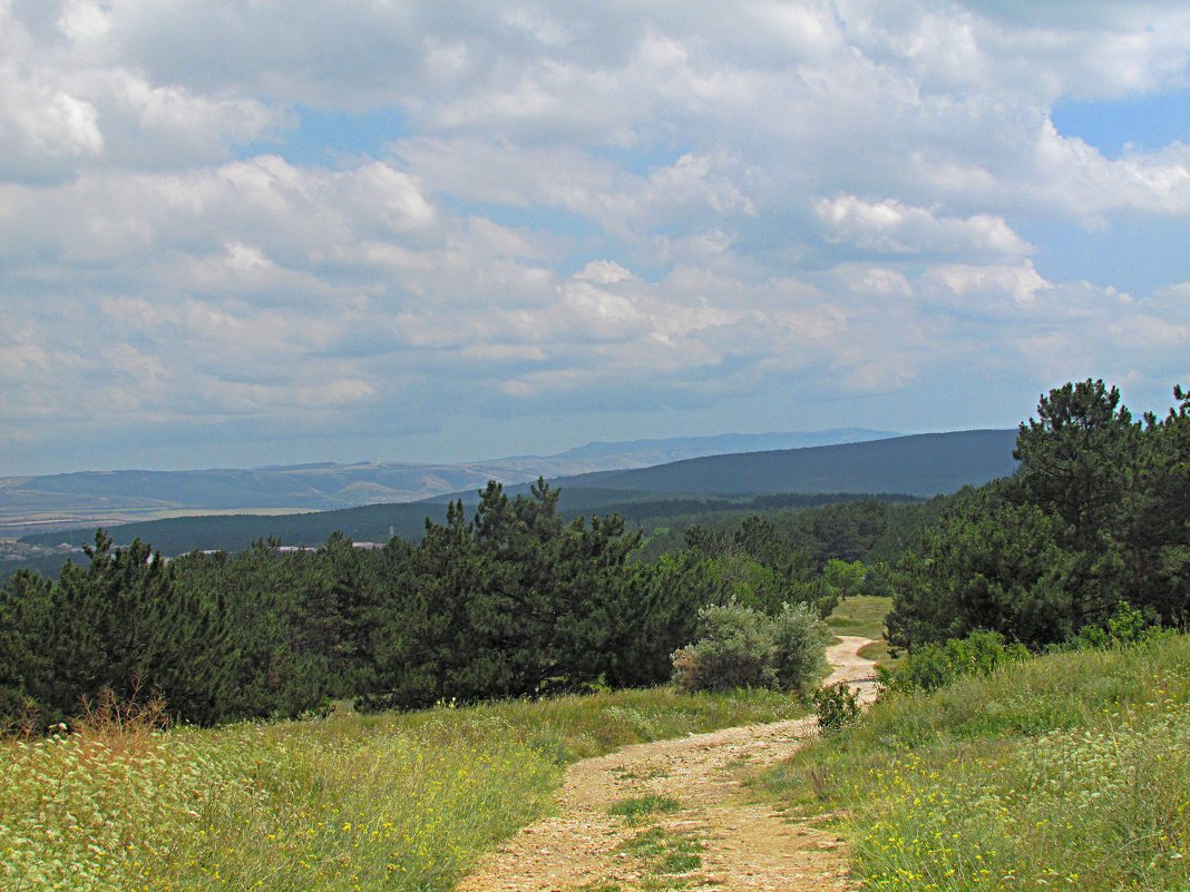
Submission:
<svg viewBox="0 0 1190 892">
<path fill-rule="evenodd" d="M 0 0 L 0 476 L 1190 384 L 1184 0 Z"/>
</svg>

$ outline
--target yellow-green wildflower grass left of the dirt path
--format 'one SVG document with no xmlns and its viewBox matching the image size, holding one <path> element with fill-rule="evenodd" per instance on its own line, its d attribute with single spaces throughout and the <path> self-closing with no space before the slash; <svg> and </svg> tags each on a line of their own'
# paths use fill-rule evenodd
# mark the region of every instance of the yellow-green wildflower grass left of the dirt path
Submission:
<svg viewBox="0 0 1190 892">
<path fill-rule="evenodd" d="M 549 810 L 568 762 L 802 711 L 656 689 L 0 741 L 0 888 L 450 890 Z"/>
</svg>

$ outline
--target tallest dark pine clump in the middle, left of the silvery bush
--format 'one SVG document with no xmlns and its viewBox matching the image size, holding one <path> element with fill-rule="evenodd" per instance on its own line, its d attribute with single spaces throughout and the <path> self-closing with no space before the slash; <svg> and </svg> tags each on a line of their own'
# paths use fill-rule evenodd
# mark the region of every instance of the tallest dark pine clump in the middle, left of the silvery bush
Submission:
<svg viewBox="0 0 1190 892">
<path fill-rule="evenodd" d="M 372 639 L 369 709 L 441 698 L 539 695 L 651 683 L 696 605 L 630 564 L 637 538 L 619 517 L 564 524 L 558 491 L 539 482 L 509 498 L 483 492 L 475 519 L 462 502 L 445 526 L 427 522 L 395 578 Z"/>
</svg>

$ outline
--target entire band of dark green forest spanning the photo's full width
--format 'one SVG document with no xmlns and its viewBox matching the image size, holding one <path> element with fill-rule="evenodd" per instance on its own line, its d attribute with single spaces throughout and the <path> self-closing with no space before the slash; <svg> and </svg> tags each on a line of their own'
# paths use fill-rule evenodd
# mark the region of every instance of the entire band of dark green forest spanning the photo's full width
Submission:
<svg viewBox="0 0 1190 892">
<path fill-rule="evenodd" d="M 0 721 L 46 727 L 86 698 L 158 692 L 215 724 L 543 696 L 665 681 L 700 609 L 827 615 L 892 596 L 910 652 L 987 630 L 1034 651 L 1104 628 L 1121 604 L 1153 626 L 1190 611 L 1190 396 L 1133 419 L 1102 381 L 1050 391 L 1020 426 L 1015 475 L 954 497 L 731 513 L 630 532 L 563 519 L 539 480 L 452 503 L 416 544 L 165 560 L 99 530 L 58 578 L 0 589 Z M 779 503 L 778 503 L 779 504 Z"/>
</svg>

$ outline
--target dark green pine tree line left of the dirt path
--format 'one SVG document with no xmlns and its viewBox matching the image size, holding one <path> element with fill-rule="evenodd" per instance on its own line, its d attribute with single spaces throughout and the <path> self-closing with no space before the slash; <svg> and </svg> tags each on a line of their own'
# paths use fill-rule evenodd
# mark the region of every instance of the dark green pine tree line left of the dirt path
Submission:
<svg viewBox="0 0 1190 892">
<path fill-rule="evenodd" d="M 56 580 L 20 571 L 0 589 L 0 722 L 56 722 L 105 689 L 159 691 L 174 717 L 211 724 L 340 698 L 418 708 L 647 685 L 669 679 L 707 604 L 834 604 L 769 521 L 695 529 L 644 561 L 620 516 L 568 523 L 558 496 L 490 483 L 472 516 L 456 502 L 415 545 L 371 551 L 334 534 L 165 560 L 99 530 Z"/>
</svg>

